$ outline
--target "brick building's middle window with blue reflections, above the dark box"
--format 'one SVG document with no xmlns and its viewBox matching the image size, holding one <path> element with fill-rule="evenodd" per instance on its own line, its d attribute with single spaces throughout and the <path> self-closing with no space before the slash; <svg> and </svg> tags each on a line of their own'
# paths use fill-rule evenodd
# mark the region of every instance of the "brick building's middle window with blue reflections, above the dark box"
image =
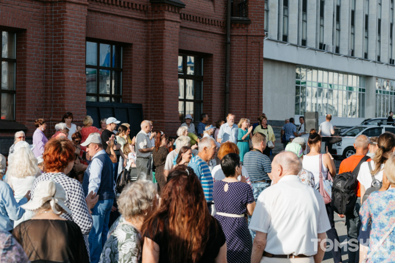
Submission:
<svg viewBox="0 0 395 263">
<path fill-rule="evenodd" d="M 122 46 L 86 43 L 87 102 L 122 102 Z"/>
</svg>

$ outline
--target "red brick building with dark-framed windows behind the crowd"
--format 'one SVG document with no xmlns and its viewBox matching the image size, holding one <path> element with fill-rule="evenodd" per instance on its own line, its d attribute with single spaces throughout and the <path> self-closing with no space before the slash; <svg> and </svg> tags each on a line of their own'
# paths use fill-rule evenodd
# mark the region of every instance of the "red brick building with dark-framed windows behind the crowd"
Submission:
<svg viewBox="0 0 395 263">
<path fill-rule="evenodd" d="M 224 118 L 226 14 L 227 0 L 3 0 L 0 136 L 41 117 L 50 135 L 66 111 L 81 124 L 87 101 L 142 104 L 170 134 L 187 113 Z M 236 121 L 262 112 L 263 16 L 261 0 L 232 1 Z"/>
</svg>

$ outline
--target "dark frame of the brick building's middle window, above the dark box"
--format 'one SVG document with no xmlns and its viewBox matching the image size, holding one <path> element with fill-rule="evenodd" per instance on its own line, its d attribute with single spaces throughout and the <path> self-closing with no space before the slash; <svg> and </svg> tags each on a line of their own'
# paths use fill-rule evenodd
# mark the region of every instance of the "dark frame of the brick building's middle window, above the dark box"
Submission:
<svg viewBox="0 0 395 263">
<path fill-rule="evenodd" d="M 117 42 L 105 41 L 105 40 L 102 40 L 102 39 L 92 39 L 92 38 L 87 38 L 86 39 L 86 44 L 88 42 L 97 44 L 96 66 L 88 65 L 87 61 L 86 61 L 86 56 L 85 56 L 85 69 L 96 69 L 96 92 L 95 93 L 88 93 L 88 92 L 86 92 L 86 96 L 87 97 L 88 96 L 96 97 L 96 102 L 101 102 L 100 98 L 102 97 L 102 98 L 109 98 L 108 102 L 102 102 L 102 103 L 122 103 L 124 45 L 122 45 L 121 43 L 117 43 Z M 86 47 L 86 44 L 85 44 L 85 47 Z M 110 67 L 100 66 L 100 45 L 101 44 L 110 45 Z M 114 46 L 118 47 L 118 48 L 121 48 L 121 68 L 114 67 L 112 65 L 113 64 L 113 47 Z M 119 87 L 120 94 L 113 94 L 111 87 L 110 87 L 110 93 L 109 94 L 102 94 L 102 93 L 100 93 L 100 79 L 99 79 L 100 78 L 100 70 L 108 70 L 108 71 L 110 71 L 110 83 L 112 83 L 112 80 L 113 80 L 113 72 L 120 72 L 121 73 L 121 81 L 120 81 L 121 87 Z M 114 90 L 117 90 L 117 89 L 114 88 Z"/>
</svg>

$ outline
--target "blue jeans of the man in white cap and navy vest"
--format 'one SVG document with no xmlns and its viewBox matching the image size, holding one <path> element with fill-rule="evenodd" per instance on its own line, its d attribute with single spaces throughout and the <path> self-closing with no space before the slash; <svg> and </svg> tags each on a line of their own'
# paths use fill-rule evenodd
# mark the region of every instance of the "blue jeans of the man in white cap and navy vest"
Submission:
<svg viewBox="0 0 395 263">
<path fill-rule="evenodd" d="M 89 233 L 89 251 L 91 263 L 97 263 L 107 240 L 108 221 L 113 199 L 98 200 L 92 209 L 93 227 Z"/>
</svg>

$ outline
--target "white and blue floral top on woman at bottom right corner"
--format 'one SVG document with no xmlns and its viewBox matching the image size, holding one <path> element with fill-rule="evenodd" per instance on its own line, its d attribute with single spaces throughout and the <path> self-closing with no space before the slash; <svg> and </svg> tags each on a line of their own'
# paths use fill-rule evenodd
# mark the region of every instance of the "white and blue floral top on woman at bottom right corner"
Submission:
<svg viewBox="0 0 395 263">
<path fill-rule="evenodd" d="M 383 192 L 373 192 L 360 210 L 362 230 L 371 224 L 368 254 L 395 224 L 395 188 Z M 367 262 L 393 262 L 395 258 L 395 231 L 389 234 Z"/>
</svg>

